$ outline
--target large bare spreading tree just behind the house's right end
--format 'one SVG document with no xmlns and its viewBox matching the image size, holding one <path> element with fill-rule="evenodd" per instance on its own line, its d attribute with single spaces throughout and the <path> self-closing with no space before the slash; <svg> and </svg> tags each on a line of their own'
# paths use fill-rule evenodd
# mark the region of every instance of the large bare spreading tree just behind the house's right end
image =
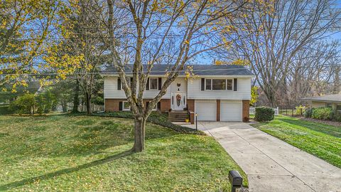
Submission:
<svg viewBox="0 0 341 192">
<path fill-rule="evenodd" d="M 286 85 L 298 51 L 309 50 L 308 45 L 328 36 L 340 23 L 340 10 L 333 9 L 335 4 L 329 0 L 255 1 L 252 14 L 237 23 L 232 21 L 242 30 L 237 35 L 225 33 L 234 47 L 227 58 L 249 61 L 269 104 L 275 106 L 276 92 Z"/>
</svg>

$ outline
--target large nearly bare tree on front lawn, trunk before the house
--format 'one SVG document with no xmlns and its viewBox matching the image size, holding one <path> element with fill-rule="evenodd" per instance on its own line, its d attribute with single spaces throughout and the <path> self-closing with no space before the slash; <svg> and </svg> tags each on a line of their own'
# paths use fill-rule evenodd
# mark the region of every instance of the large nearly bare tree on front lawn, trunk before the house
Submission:
<svg viewBox="0 0 341 192">
<path fill-rule="evenodd" d="M 107 0 L 109 37 L 102 38 L 107 39 L 112 66 L 121 78 L 134 114 L 134 151 L 144 150 L 146 119 L 166 94 L 167 87 L 185 69 L 185 63 L 201 53 L 227 45 L 214 26 L 226 16 L 233 17 L 244 4 L 243 1 L 209 0 Z M 128 63 L 132 63 L 132 74 L 126 73 Z M 169 65 L 166 81 L 158 95 L 144 106 L 144 90 L 156 63 Z M 129 75 L 133 79 L 130 84 Z"/>
</svg>

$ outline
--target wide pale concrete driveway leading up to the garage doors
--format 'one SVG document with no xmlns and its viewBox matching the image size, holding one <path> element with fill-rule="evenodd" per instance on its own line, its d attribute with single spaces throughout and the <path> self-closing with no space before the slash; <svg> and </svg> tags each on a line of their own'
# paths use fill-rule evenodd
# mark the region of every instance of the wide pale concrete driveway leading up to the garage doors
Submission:
<svg viewBox="0 0 341 192">
<path fill-rule="evenodd" d="M 195 129 L 195 124 L 186 127 Z M 341 191 L 341 169 L 242 122 L 198 122 L 249 178 L 249 191 Z"/>
</svg>

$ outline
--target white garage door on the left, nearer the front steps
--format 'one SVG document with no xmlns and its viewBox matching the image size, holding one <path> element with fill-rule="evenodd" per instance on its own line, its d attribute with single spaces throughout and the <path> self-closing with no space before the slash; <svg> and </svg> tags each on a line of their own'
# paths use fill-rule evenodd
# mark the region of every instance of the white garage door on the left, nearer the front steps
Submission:
<svg viewBox="0 0 341 192">
<path fill-rule="evenodd" d="M 198 121 L 216 121 L 217 102 L 195 101 Z"/>
</svg>

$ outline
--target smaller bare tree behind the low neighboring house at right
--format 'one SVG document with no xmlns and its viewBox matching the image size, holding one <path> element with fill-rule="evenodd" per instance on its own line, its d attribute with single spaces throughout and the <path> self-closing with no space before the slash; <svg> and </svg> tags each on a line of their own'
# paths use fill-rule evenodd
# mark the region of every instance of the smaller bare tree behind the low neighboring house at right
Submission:
<svg viewBox="0 0 341 192">
<path fill-rule="evenodd" d="M 335 85 L 334 78 L 337 68 L 340 68 L 338 47 L 337 41 L 317 41 L 298 50 L 283 87 L 288 93 L 286 105 L 299 105 L 303 97 L 332 91 L 334 87 L 331 88 L 330 85 Z"/>
</svg>

